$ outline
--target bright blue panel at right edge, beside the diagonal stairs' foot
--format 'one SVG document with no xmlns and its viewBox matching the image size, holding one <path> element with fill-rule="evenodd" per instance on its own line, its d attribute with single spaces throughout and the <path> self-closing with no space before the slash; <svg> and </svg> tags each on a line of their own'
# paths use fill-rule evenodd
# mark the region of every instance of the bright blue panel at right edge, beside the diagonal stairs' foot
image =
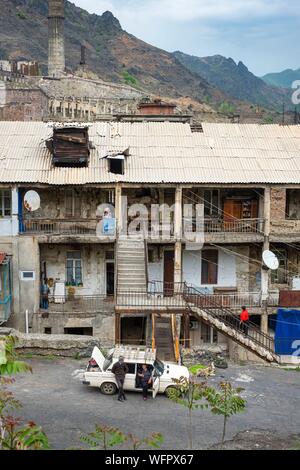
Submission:
<svg viewBox="0 0 300 470">
<path fill-rule="evenodd" d="M 280 356 L 300 355 L 300 310 L 278 309 L 275 351 Z"/>
</svg>

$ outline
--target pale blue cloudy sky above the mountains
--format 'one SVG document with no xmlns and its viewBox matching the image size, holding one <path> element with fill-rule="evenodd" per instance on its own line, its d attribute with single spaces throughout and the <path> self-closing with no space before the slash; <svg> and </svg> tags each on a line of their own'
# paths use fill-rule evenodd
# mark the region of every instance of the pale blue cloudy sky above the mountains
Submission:
<svg viewBox="0 0 300 470">
<path fill-rule="evenodd" d="M 110 10 L 123 29 L 168 51 L 242 60 L 257 75 L 297 69 L 300 0 L 72 0 Z"/>
</svg>

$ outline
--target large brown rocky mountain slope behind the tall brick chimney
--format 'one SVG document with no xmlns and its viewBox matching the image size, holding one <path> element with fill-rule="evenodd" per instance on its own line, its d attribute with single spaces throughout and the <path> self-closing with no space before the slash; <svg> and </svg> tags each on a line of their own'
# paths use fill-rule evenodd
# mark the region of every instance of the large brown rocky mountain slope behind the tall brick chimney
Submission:
<svg viewBox="0 0 300 470">
<path fill-rule="evenodd" d="M 76 70 L 80 46 L 86 46 L 89 70 L 106 81 L 127 83 L 151 93 L 173 98 L 189 96 L 222 101 L 223 94 L 182 65 L 172 54 L 153 47 L 124 31 L 110 12 L 99 16 L 66 1 L 66 65 Z M 31 59 L 47 70 L 48 0 L 0 0 L 2 58 Z"/>
</svg>

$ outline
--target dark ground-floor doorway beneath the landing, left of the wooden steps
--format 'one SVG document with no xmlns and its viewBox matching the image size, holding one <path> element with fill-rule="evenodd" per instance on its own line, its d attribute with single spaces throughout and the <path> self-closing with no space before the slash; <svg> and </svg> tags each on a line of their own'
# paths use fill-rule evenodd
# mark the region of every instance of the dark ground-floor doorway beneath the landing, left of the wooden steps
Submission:
<svg viewBox="0 0 300 470">
<path fill-rule="evenodd" d="M 121 318 L 121 343 L 133 346 L 146 345 L 147 317 Z"/>
</svg>

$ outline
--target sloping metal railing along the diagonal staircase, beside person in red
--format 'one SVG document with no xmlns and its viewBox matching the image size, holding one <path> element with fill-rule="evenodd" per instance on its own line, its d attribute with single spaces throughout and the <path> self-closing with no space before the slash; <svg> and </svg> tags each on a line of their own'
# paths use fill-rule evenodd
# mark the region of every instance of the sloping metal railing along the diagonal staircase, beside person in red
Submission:
<svg viewBox="0 0 300 470">
<path fill-rule="evenodd" d="M 207 296 L 194 287 L 185 285 L 183 298 L 193 313 L 195 313 L 192 308 L 194 306 L 197 309 L 200 309 L 207 313 L 210 317 L 221 321 L 227 327 L 242 334 L 244 337 L 247 337 L 257 346 L 262 347 L 271 353 L 274 353 L 274 338 L 260 331 L 260 329 L 255 323 L 249 321 L 245 325 L 243 322 L 240 321 L 238 315 L 235 315 L 228 308 L 218 305 L 216 302 L 214 303 L 214 300 L 212 298 L 210 298 L 209 300 L 210 305 L 208 307 Z"/>
</svg>

